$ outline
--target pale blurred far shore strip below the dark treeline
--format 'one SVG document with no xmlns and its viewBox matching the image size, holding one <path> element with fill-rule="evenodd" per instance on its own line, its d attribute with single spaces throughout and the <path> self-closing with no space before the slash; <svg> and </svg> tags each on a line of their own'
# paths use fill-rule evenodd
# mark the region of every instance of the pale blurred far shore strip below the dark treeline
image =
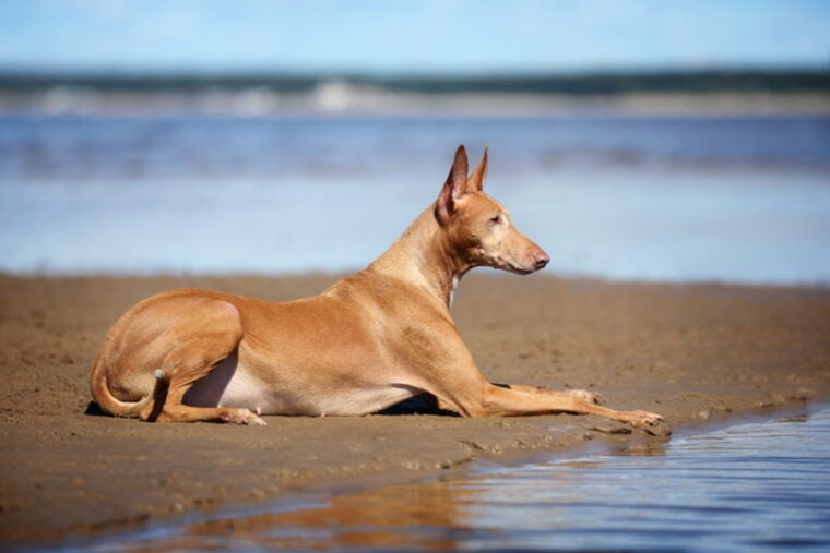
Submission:
<svg viewBox="0 0 830 553">
<path fill-rule="evenodd" d="M 57 87 L 38 93 L 0 91 L 0 117 L 269 119 L 666 119 L 827 117 L 830 94 L 706 92 L 621 94 L 391 93 L 322 89 L 317 94 L 262 91 L 134 93 Z"/>
</svg>

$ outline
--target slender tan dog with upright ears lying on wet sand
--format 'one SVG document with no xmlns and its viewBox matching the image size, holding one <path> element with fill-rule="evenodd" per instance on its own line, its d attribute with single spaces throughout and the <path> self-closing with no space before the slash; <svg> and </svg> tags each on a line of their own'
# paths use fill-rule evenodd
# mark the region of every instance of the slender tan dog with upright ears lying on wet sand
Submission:
<svg viewBox="0 0 830 553">
<path fill-rule="evenodd" d="M 549 261 L 467 178 L 459 147 L 438 200 L 369 267 L 286 303 L 181 289 L 130 309 L 95 360 L 92 393 L 120 417 L 264 424 L 260 414 L 367 414 L 422 393 L 464 417 L 595 413 L 635 425 L 582 390 L 488 383 L 450 315 L 471 268 L 527 274 Z"/>
</svg>

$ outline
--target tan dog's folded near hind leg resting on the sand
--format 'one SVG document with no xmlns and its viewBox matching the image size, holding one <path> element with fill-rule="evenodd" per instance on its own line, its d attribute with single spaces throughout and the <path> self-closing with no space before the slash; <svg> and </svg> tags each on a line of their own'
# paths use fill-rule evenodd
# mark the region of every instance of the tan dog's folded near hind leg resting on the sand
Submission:
<svg viewBox="0 0 830 553">
<path fill-rule="evenodd" d="M 146 421 L 165 422 L 234 422 L 258 424 L 265 422 L 249 409 L 233 407 L 193 407 L 182 402 L 185 394 L 200 378 L 236 350 L 242 338 L 242 325 L 237 309 L 228 302 L 214 300 L 205 313 L 200 305 L 193 313 L 199 323 L 188 326 L 187 334 L 171 344 L 156 378 L 168 380 L 166 394 L 149 405 L 140 414 Z"/>
</svg>

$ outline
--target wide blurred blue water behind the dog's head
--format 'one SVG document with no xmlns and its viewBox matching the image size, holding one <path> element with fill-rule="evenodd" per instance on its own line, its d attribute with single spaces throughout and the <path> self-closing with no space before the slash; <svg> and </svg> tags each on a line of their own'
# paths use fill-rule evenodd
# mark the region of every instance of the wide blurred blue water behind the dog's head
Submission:
<svg viewBox="0 0 830 553">
<path fill-rule="evenodd" d="M 459 143 L 548 272 L 830 282 L 827 117 L 0 118 L 0 271 L 361 268 Z"/>
</svg>

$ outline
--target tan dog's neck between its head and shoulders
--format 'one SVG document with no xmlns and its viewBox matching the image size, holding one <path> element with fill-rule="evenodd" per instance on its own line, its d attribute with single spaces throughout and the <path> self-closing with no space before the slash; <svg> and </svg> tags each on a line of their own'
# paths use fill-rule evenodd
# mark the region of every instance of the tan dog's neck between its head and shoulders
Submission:
<svg viewBox="0 0 830 553">
<path fill-rule="evenodd" d="M 473 265 L 459 257 L 435 217 L 435 204 L 410 225 L 368 271 L 425 288 L 447 308 L 461 277 Z"/>
</svg>

